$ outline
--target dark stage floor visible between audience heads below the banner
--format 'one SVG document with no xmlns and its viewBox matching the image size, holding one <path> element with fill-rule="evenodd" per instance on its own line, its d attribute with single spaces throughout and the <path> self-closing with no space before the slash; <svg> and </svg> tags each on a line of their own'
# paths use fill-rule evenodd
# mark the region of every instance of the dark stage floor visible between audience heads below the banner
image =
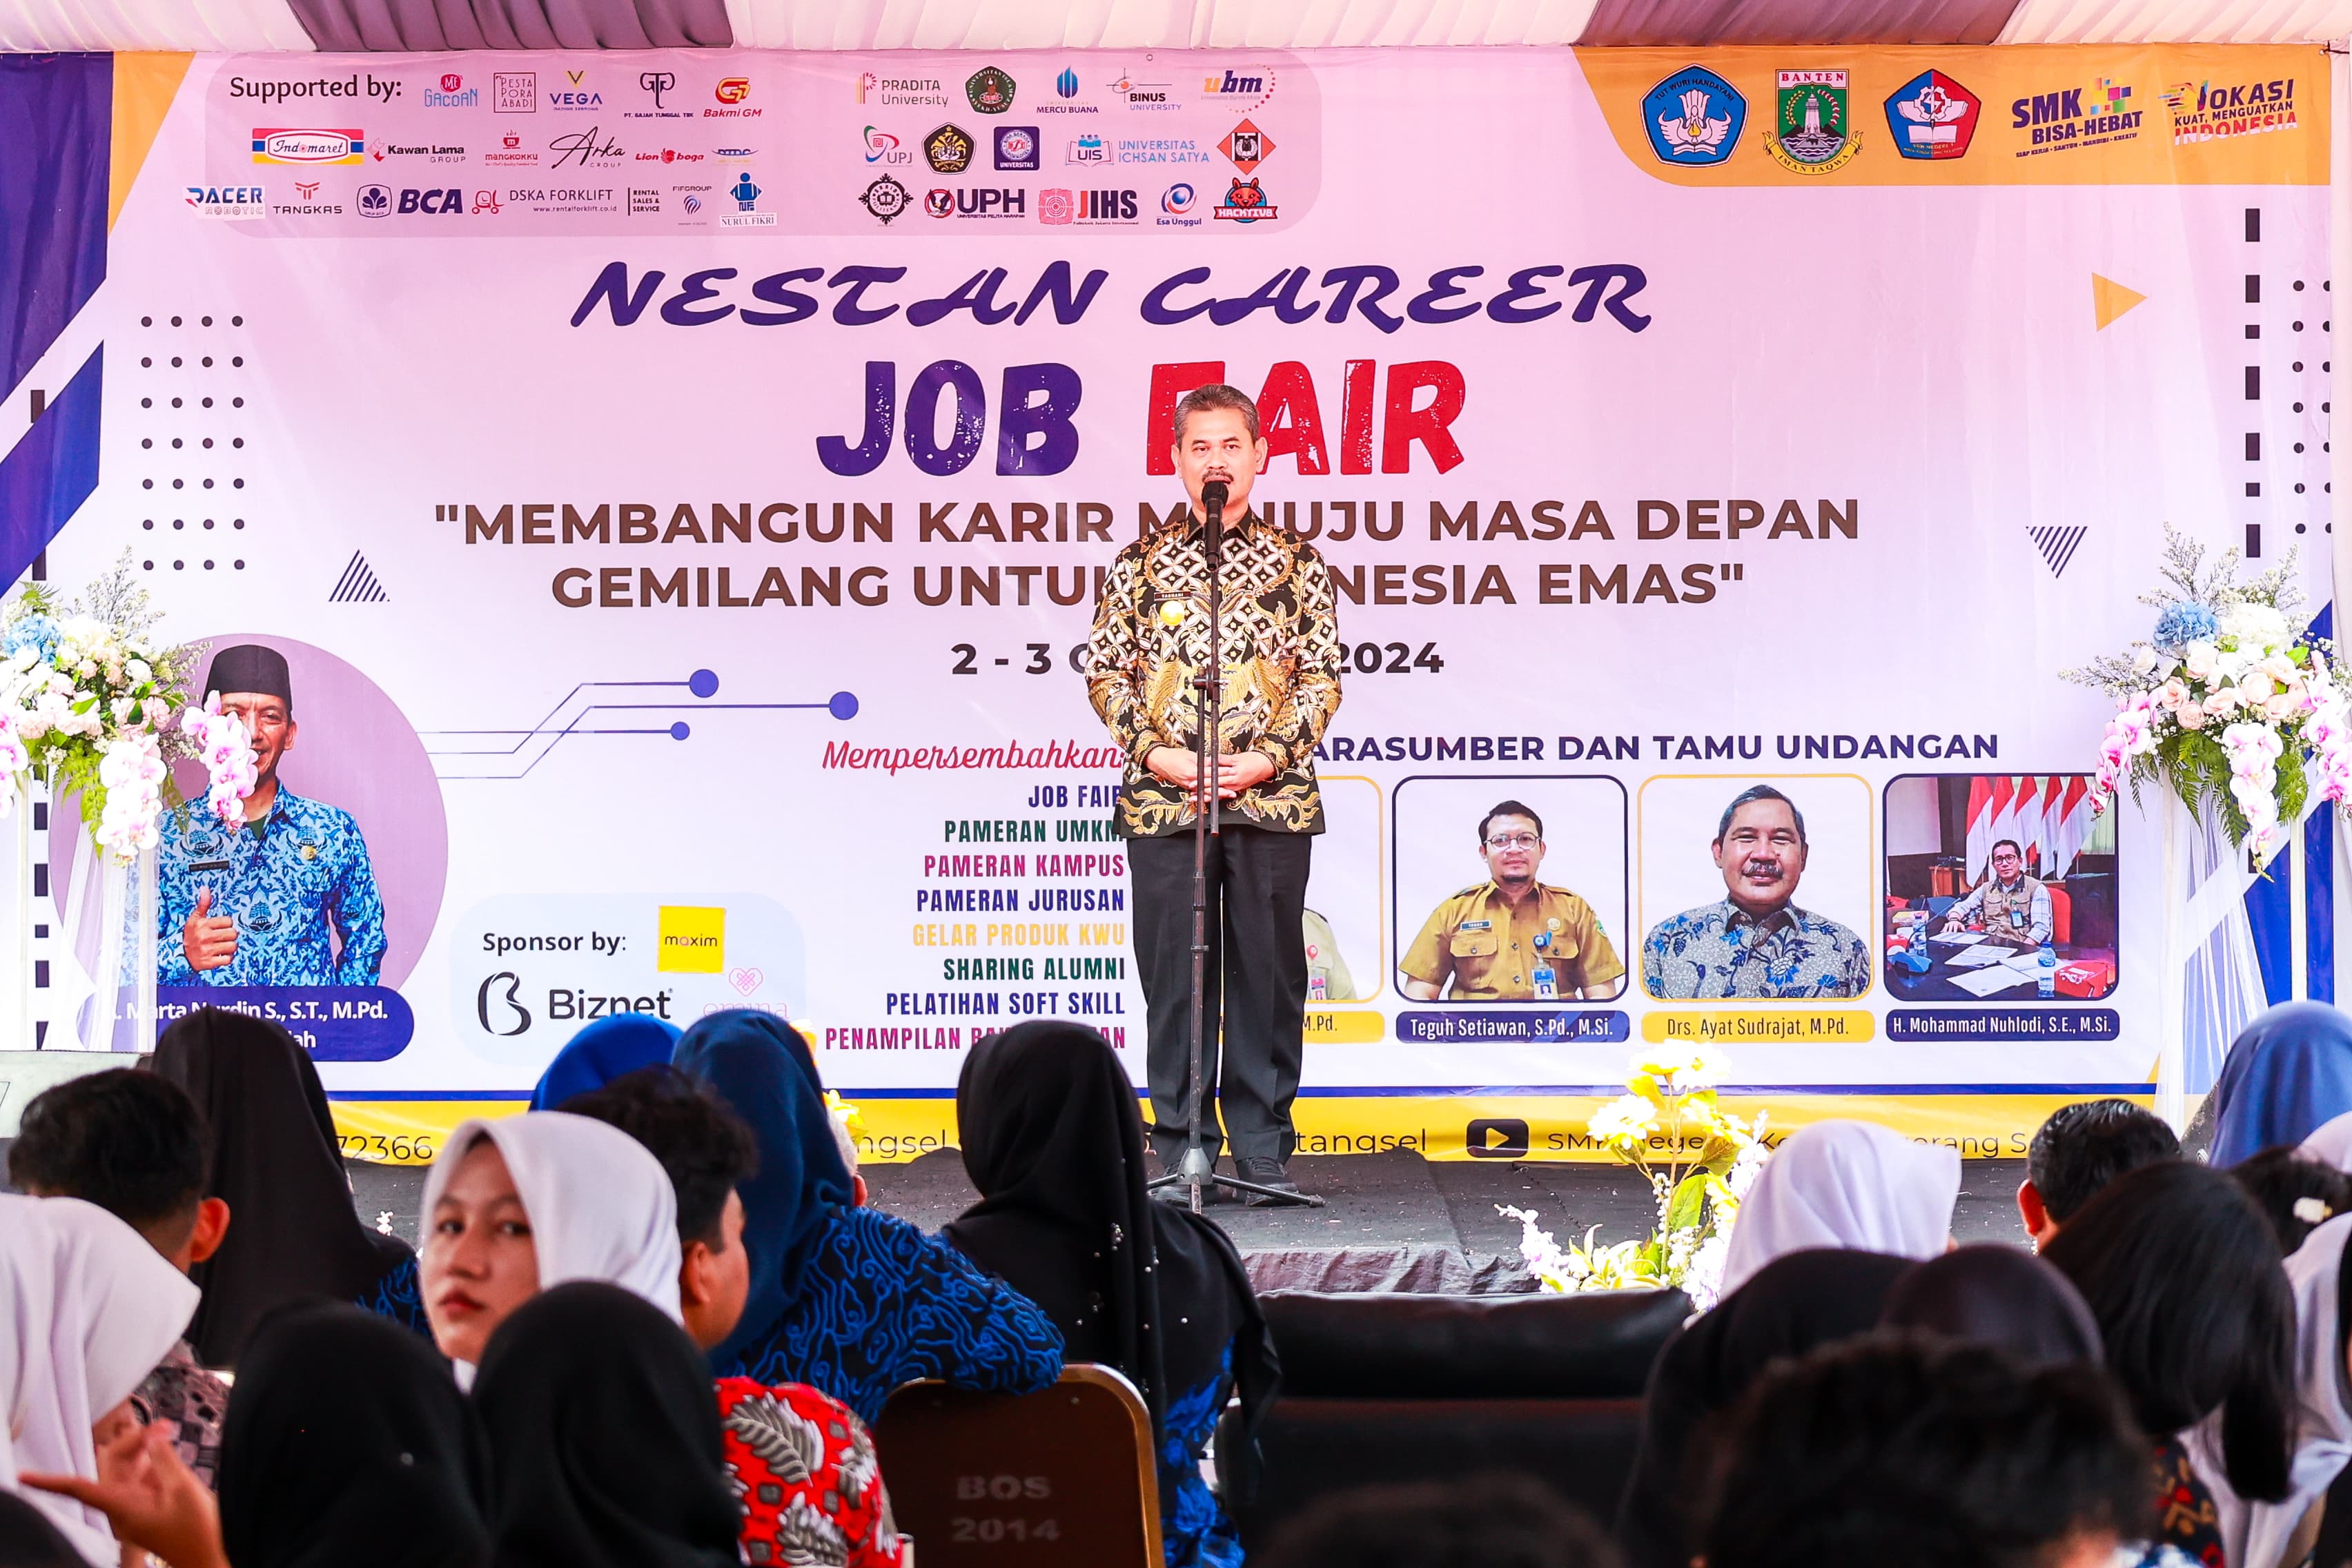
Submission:
<svg viewBox="0 0 2352 1568">
<path fill-rule="evenodd" d="M 393 1215 L 393 1229 L 416 1239 L 416 1204 L 423 1194 L 421 1166 L 372 1166 L 348 1161 L 353 1204 L 369 1225 Z M 1649 1232 L 1649 1190 L 1623 1166 L 1524 1164 L 1524 1161 L 1428 1161 L 1411 1152 L 1317 1154 L 1291 1161 L 1291 1175 L 1327 1201 L 1324 1208 L 1209 1211 L 1249 1251 L 1301 1248 L 1458 1248 L 1472 1258 L 1519 1251 L 1519 1222 L 1494 1208 L 1534 1208 L 1543 1227 L 1566 1241 L 1602 1227 L 1602 1241 L 1625 1241 Z M 2018 1227 L 2016 1190 L 2023 1159 L 1971 1159 L 1962 1164 L 1959 1208 L 1952 1232 L 1962 1241 L 2025 1244 Z M 953 1150 L 924 1154 L 903 1166 L 866 1166 L 873 1206 L 938 1229 L 978 1194 Z"/>
</svg>

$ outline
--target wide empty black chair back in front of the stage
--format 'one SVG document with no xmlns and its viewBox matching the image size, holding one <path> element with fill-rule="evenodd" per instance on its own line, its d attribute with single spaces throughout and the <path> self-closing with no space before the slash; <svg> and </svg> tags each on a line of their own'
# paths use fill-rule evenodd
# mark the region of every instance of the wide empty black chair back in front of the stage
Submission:
<svg viewBox="0 0 2352 1568">
<path fill-rule="evenodd" d="M 1324 1493 L 1385 1481 L 1522 1472 L 1611 1519 L 1649 1368 L 1691 1314 L 1682 1291 L 1275 1291 L 1261 1302 L 1282 1356 L 1282 1396 L 1258 1422 L 1254 1493 L 1225 1488 L 1225 1512 L 1251 1552 Z M 1228 1413 L 1218 1455 L 1240 1441 Z M 1221 1460 L 1218 1472 L 1235 1467 Z"/>
</svg>

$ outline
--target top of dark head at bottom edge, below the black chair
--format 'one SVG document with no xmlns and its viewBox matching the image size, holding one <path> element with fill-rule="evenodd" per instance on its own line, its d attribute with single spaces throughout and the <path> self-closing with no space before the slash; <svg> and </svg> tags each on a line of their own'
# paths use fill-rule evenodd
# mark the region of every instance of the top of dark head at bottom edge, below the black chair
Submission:
<svg viewBox="0 0 2352 1568">
<path fill-rule="evenodd" d="M 1322 1497 L 1275 1533 L 1263 1568 L 1616 1568 L 1616 1554 L 1543 1481 L 1479 1476 Z"/>
</svg>

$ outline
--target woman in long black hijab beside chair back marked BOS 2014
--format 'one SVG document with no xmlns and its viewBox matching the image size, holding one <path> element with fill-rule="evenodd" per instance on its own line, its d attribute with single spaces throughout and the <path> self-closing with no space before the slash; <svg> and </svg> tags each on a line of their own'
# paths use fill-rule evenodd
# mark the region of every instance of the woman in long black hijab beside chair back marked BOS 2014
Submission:
<svg viewBox="0 0 2352 1568">
<path fill-rule="evenodd" d="M 1272 1335 L 1232 1241 L 1150 1201 L 1143 1114 L 1117 1051 L 1075 1023 L 1021 1023 L 964 1056 L 955 1084 L 964 1171 L 981 1201 L 943 1232 L 1044 1307 L 1065 1361 L 1115 1366 L 1152 1413 L 1169 1568 L 1240 1563 L 1242 1542 L 1200 1474 L 1242 1399 L 1242 1446 L 1275 1394 Z M 1218 1448 L 1232 1486 L 1249 1455 Z"/>
</svg>

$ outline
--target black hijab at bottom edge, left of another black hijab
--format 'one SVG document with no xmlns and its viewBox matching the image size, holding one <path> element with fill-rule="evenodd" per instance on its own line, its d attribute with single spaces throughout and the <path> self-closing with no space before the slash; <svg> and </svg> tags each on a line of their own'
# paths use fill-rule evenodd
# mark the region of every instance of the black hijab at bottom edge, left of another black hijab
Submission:
<svg viewBox="0 0 2352 1568">
<path fill-rule="evenodd" d="M 449 1363 L 341 1302 L 254 1328 L 221 1429 L 238 1568 L 487 1568 L 489 1462 Z"/>
</svg>

